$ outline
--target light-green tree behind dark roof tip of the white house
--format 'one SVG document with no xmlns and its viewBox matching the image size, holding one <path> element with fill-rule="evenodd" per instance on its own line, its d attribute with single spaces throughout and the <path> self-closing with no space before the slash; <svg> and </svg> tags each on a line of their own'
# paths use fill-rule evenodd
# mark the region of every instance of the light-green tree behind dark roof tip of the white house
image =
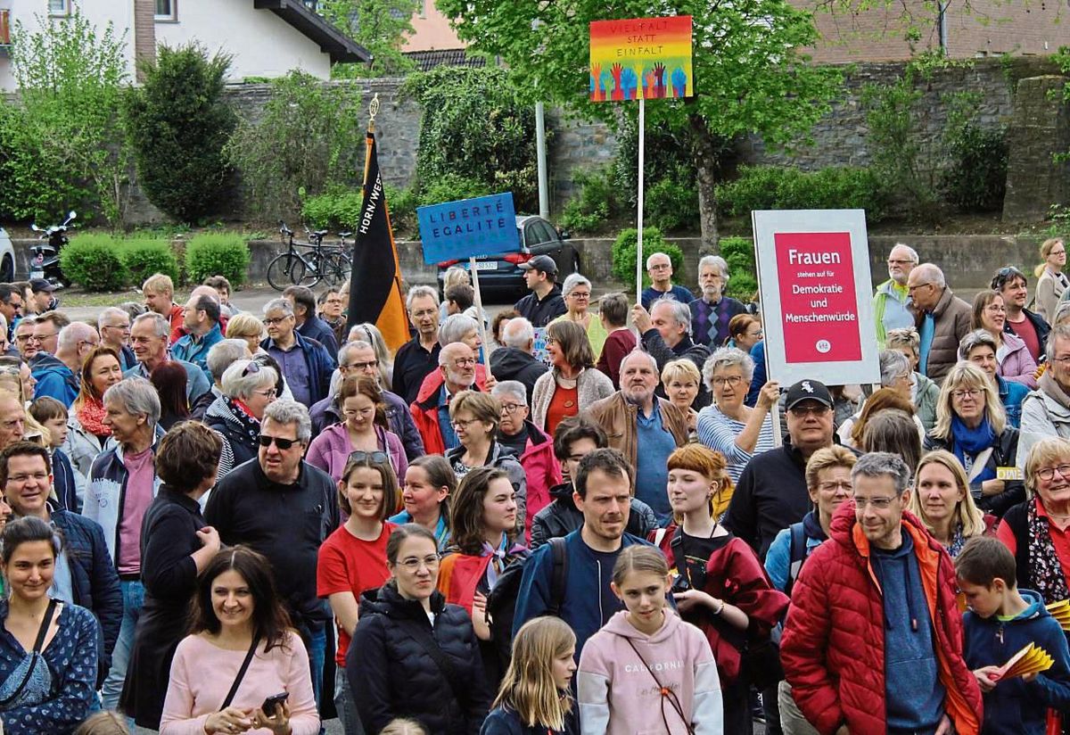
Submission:
<svg viewBox="0 0 1070 735">
<path fill-rule="evenodd" d="M 400 76 L 415 68 L 401 52 L 413 33 L 412 16 L 423 0 L 321 0 L 318 10 L 349 37 L 371 51 L 370 64 L 337 64 L 335 77 Z"/>
</svg>

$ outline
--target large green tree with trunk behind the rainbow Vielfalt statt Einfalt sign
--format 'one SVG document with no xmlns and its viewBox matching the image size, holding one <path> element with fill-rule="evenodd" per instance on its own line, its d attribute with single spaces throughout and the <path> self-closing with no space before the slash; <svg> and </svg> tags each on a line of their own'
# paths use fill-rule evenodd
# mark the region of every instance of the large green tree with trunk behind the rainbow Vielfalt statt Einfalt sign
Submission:
<svg viewBox="0 0 1070 735">
<path fill-rule="evenodd" d="M 694 163 L 703 248 L 717 240 L 715 186 L 725 143 L 755 133 L 766 144 L 805 138 L 829 110 L 841 75 L 798 49 L 817 33 L 809 12 L 788 0 L 438 0 L 461 39 L 501 57 L 530 99 L 587 118 L 636 116 L 638 105 L 588 102 L 588 24 L 663 15 L 693 17 L 696 96 L 646 106 L 647 123 L 684 136 Z"/>
</svg>

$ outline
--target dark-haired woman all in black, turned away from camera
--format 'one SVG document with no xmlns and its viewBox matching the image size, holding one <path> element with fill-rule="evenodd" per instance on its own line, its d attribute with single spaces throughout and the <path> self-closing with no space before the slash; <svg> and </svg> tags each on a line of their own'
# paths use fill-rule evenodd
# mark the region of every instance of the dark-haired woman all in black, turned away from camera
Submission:
<svg viewBox="0 0 1070 735">
<path fill-rule="evenodd" d="M 219 551 L 219 534 L 197 502 L 215 484 L 223 441 L 198 422 L 164 434 L 156 474 L 164 481 L 141 523 L 144 606 L 134 634 L 121 706 L 137 724 L 159 730 L 171 659 L 189 628 L 197 575 Z"/>
</svg>

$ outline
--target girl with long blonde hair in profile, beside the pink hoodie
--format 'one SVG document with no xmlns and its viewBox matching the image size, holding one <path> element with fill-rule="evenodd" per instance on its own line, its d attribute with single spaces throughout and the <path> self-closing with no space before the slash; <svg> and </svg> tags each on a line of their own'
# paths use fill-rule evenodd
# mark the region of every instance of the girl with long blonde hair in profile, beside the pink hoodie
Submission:
<svg viewBox="0 0 1070 735">
<path fill-rule="evenodd" d="M 479 735 L 577 732 L 575 656 L 576 633 L 560 617 L 524 623 L 513 638 L 513 659 Z"/>
</svg>

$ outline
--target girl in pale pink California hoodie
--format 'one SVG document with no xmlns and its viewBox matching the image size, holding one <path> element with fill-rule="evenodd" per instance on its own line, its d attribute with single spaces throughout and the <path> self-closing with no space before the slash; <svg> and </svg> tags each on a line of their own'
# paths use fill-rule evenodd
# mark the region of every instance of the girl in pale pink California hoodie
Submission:
<svg viewBox="0 0 1070 735">
<path fill-rule="evenodd" d="M 657 549 L 624 549 L 612 589 L 626 608 L 591 637 L 577 678 L 583 735 L 720 735 L 721 685 L 701 630 L 667 609 L 669 565 Z"/>
</svg>

